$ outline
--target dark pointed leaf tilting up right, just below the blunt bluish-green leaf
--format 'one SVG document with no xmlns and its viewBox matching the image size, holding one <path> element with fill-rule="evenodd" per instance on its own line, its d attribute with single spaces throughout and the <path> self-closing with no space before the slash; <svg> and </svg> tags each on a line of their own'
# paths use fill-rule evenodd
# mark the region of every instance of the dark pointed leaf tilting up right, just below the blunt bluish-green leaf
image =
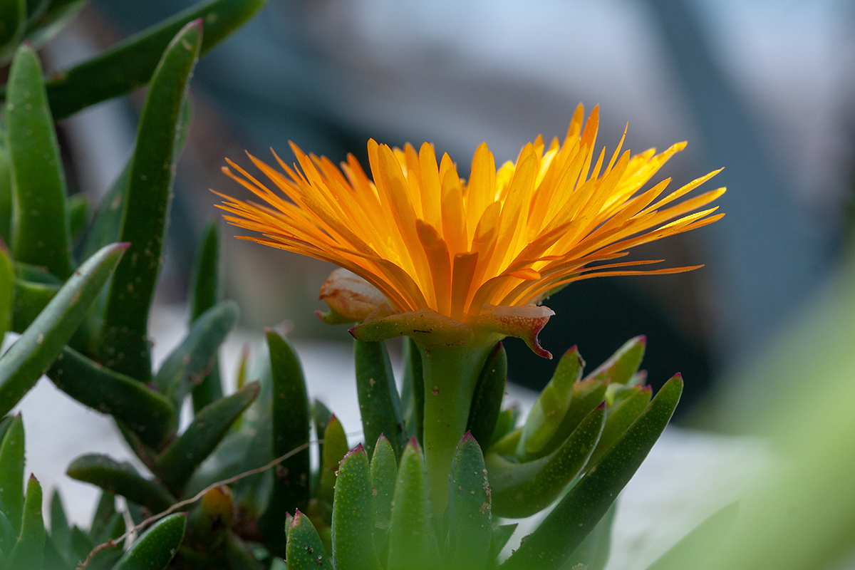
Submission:
<svg viewBox="0 0 855 570">
<path fill-rule="evenodd" d="M 220 444 L 233 421 L 256 399 L 258 388 L 257 382 L 251 382 L 203 408 L 185 432 L 163 451 L 156 473 L 176 497 L 181 496 L 196 467 Z"/>
</svg>

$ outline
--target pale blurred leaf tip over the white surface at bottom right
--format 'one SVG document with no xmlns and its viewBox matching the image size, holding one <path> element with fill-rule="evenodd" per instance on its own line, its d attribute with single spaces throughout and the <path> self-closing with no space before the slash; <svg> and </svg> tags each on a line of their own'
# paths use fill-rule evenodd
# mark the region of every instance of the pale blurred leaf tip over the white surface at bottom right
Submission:
<svg viewBox="0 0 855 570">
<path fill-rule="evenodd" d="M 727 538 L 737 514 L 738 502 L 720 508 L 659 556 L 647 570 L 699 570 Z"/>
</svg>

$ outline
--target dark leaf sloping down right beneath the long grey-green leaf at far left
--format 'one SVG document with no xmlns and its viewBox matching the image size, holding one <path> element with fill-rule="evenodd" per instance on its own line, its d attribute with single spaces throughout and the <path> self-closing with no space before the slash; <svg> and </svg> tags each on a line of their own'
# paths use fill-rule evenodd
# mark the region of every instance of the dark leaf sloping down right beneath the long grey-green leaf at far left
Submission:
<svg viewBox="0 0 855 570">
<path fill-rule="evenodd" d="M 177 425 L 175 408 L 166 397 L 68 346 L 47 375 L 68 396 L 121 420 L 153 449 L 160 449 Z"/>
</svg>

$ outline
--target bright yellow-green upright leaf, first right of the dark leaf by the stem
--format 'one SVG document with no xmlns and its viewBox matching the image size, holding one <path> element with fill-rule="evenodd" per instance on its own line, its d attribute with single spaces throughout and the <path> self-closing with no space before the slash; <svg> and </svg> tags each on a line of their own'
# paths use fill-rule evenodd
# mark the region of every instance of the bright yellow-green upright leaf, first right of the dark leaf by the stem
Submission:
<svg viewBox="0 0 855 570">
<path fill-rule="evenodd" d="M 551 441 L 570 407 L 573 388 L 582 377 L 585 361 L 576 347 L 570 348 L 558 361 L 555 373 L 528 412 L 516 450 L 520 461 L 534 458 Z"/>
</svg>

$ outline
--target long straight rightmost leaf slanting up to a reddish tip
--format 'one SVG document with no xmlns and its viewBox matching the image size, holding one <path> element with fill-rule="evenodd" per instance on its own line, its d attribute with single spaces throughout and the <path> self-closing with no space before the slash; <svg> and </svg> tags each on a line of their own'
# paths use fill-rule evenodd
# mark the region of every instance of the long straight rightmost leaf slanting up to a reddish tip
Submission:
<svg viewBox="0 0 855 570">
<path fill-rule="evenodd" d="M 504 562 L 505 570 L 538 567 L 560 568 L 597 525 L 624 485 L 662 435 L 680 401 L 680 375 L 669 379 L 622 438 L 558 502 L 540 526 Z"/>
</svg>

